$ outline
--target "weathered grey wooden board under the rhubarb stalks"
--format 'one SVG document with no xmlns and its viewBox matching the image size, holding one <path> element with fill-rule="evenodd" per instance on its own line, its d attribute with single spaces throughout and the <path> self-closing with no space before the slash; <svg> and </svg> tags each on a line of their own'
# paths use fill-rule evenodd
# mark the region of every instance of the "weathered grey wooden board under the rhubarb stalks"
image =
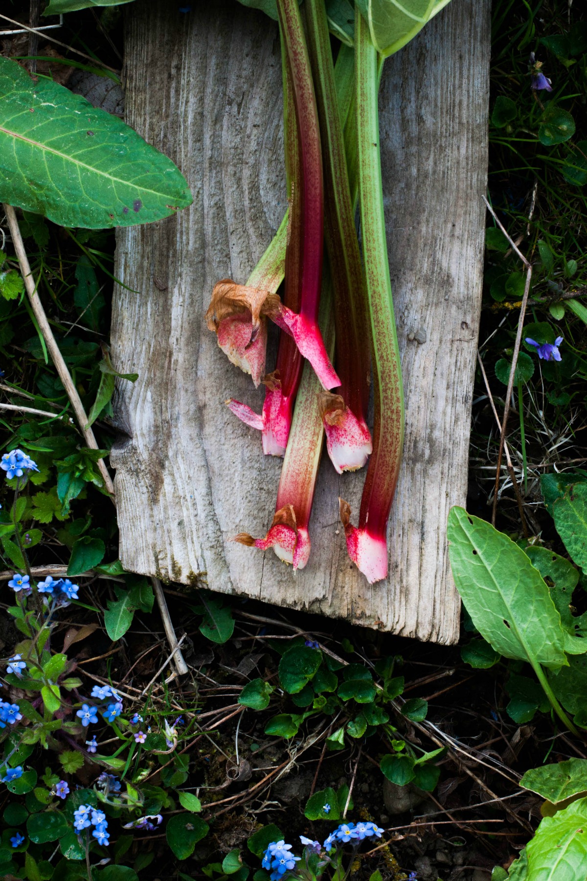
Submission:
<svg viewBox="0 0 587 881">
<path fill-rule="evenodd" d="M 128 569 L 341 616 L 421 640 L 458 638 L 446 517 L 466 497 L 481 302 L 488 162 L 489 0 L 452 3 L 385 63 L 380 126 L 385 215 L 406 389 L 403 472 L 390 522 L 389 581 L 370 587 L 347 557 L 338 496 L 358 514 L 363 474 L 323 461 L 312 558 L 293 574 L 263 536 L 281 460 L 224 406 L 260 411 L 203 316 L 219 278 L 244 282 L 285 207 L 276 26 L 234 0 L 165 0 L 128 12 L 128 122 L 174 159 L 189 211 L 118 234 L 113 359 L 124 436 L 111 456 Z M 270 364 L 270 361 L 268 361 Z"/>
</svg>

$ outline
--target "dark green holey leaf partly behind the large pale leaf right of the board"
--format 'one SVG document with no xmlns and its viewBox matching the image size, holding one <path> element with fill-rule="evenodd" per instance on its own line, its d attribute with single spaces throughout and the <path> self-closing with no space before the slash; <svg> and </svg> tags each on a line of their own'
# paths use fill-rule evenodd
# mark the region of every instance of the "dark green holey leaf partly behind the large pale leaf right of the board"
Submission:
<svg viewBox="0 0 587 881">
<path fill-rule="evenodd" d="M 582 655 L 587 651 L 587 616 L 575 617 L 571 611 L 573 591 L 579 581 L 579 573 L 568 559 L 559 557 L 539 545 L 526 548 L 530 559 L 547 583 L 550 596 L 561 616 L 561 626 L 565 632 L 565 650 L 571 655 Z"/>
</svg>

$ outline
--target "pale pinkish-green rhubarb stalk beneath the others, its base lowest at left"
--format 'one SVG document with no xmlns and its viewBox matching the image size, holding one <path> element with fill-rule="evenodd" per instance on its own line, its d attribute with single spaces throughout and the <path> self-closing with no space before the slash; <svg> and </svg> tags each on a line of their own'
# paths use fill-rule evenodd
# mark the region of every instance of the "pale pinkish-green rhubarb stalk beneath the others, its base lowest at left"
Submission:
<svg viewBox="0 0 587 881">
<path fill-rule="evenodd" d="M 332 353 L 334 350 L 332 282 L 326 268 L 322 281 L 320 328 L 328 352 Z M 240 533 L 234 538 L 234 541 L 240 544 L 256 547 L 262 551 L 272 547 L 277 556 L 286 563 L 292 563 L 294 569 L 304 568 L 310 556 L 308 524 L 324 440 L 319 403 L 320 390 L 318 377 L 306 362 L 283 460 L 273 523 L 264 538 L 253 538 L 247 533 Z"/>
</svg>

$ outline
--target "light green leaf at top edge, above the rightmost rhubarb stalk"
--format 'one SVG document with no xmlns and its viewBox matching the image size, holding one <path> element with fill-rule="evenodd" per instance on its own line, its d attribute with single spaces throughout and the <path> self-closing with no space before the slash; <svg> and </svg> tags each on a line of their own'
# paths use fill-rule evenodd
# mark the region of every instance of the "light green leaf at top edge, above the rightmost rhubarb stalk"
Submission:
<svg viewBox="0 0 587 881">
<path fill-rule="evenodd" d="M 356 0 L 369 26 L 371 41 L 380 55 L 393 55 L 426 24 L 434 0 Z"/>
</svg>

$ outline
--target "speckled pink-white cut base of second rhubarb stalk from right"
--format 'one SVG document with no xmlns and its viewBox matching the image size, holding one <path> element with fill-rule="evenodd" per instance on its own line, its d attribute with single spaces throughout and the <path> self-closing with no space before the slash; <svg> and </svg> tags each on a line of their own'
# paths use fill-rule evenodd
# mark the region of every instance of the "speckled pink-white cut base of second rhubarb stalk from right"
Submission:
<svg viewBox="0 0 587 881">
<path fill-rule="evenodd" d="M 340 395 L 329 392 L 320 395 L 320 412 L 334 468 L 339 474 L 363 468 L 373 449 L 371 433 L 363 418 L 356 418 Z"/>
</svg>

